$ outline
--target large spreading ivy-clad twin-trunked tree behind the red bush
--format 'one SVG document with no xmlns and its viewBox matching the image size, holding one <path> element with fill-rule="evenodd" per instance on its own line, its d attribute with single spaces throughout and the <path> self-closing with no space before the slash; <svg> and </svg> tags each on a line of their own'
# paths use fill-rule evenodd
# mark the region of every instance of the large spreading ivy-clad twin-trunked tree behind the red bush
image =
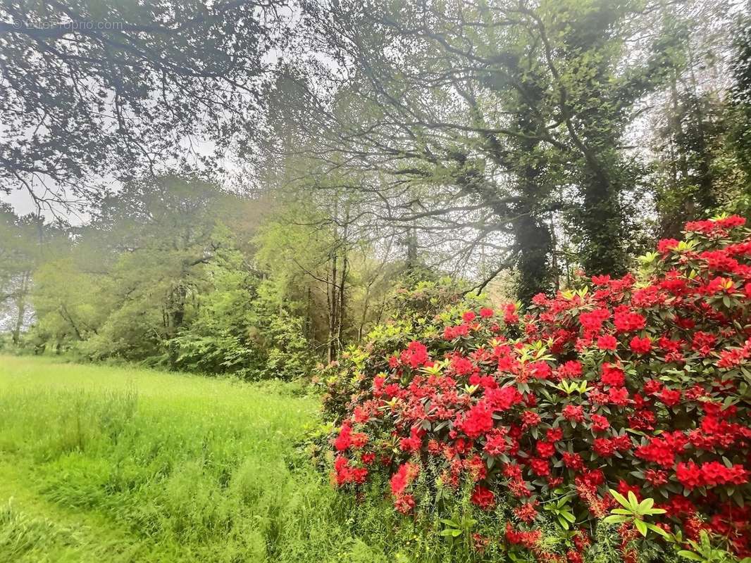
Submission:
<svg viewBox="0 0 751 563">
<path fill-rule="evenodd" d="M 635 167 L 623 131 L 680 43 L 650 6 L 308 8 L 316 46 L 339 63 L 328 74 L 314 67 L 336 95 L 315 106 L 326 119 L 310 126 L 312 152 L 324 170 L 366 176 L 350 189 L 380 202 L 372 215 L 431 242 L 464 239 L 460 256 L 495 248 L 496 272 L 517 266 L 527 300 L 558 276 L 550 221 L 559 210 L 588 271 L 624 271 Z M 646 35 L 645 22 L 653 53 L 635 63 L 626 42 Z"/>
</svg>

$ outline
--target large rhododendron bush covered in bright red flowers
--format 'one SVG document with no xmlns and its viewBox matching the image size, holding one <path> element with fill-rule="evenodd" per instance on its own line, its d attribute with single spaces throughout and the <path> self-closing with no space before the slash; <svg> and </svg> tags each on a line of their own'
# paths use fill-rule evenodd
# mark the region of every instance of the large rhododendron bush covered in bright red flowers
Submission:
<svg viewBox="0 0 751 563">
<path fill-rule="evenodd" d="M 505 549 L 545 561 L 581 561 L 603 520 L 625 561 L 707 537 L 748 556 L 751 232 L 692 222 L 641 260 L 525 312 L 454 309 L 393 354 L 363 348 L 340 378 L 336 484 L 388 483 L 408 515 L 469 489 L 480 513 L 508 507 Z M 566 540 L 545 543 L 543 520 Z"/>
</svg>

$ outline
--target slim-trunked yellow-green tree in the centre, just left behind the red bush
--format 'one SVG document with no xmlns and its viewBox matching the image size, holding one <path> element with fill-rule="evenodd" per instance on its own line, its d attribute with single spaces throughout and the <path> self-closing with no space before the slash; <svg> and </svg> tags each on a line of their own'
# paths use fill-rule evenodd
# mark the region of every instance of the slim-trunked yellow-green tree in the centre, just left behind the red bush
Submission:
<svg viewBox="0 0 751 563">
<path fill-rule="evenodd" d="M 394 256 L 393 243 L 375 251 L 348 230 L 346 194 L 334 203 L 279 200 L 261 228 L 255 256 L 270 301 L 304 319 L 306 338 L 329 361 L 381 318 L 390 278 L 406 266 Z"/>
</svg>

